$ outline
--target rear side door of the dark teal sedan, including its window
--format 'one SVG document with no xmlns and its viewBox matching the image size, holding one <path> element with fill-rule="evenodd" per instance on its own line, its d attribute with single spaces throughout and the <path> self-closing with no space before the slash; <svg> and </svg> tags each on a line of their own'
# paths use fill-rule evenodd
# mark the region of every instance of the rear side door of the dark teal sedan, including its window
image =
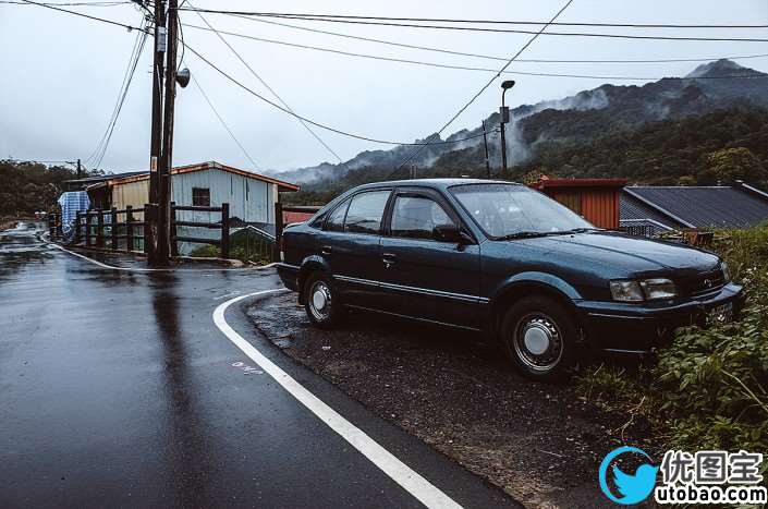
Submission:
<svg viewBox="0 0 768 509">
<path fill-rule="evenodd" d="M 318 251 L 331 269 L 342 300 L 375 307 L 381 272 L 381 227 L 391 190 L 359 192 L 326 219 Z"/>
</svg>

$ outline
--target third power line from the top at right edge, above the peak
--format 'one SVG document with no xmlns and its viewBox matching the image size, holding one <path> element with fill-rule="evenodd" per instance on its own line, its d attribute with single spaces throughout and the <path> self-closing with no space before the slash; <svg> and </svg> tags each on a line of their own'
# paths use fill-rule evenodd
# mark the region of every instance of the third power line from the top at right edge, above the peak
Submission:
<svg viewBox="0 0 768 509">
<path fill-rule="evenodd" d="M 418 49 L 418 50 L 423 50 L 423 51 L 434 51 L 434 52 L 446 53 L 446 54 L 455 54 L 459 57 L 473 57 L 473 58 L 478 58 L 478 59 L 497 60 L 497 61 L 502 61 L 502 62 L 507 61 L 507 57 L 498 57 L 498 56 L 481 54 L 481 53 L 471 53 L 471 52 L 465 52 L 465 51 L 449 50 L 449 49 L 444 49 L 444 48 L 436 48 L 436 47 L 430 47 L 430 46 L 409 45 L 409 44 L 404 44 L 404 43 L 395 43 L 393 40 L 377 39 L 377 38 L 373 38 L 373 37 L 362 37 L 362 36 L 356 36 L 356 35 L 351 35 L 351 34 L 342 34 L 339 32 L 330 32 L 330 31 L 321 31 L 318 28 L 309 28 L 307 26 L 291 25 L 289 23 L 281 23 L 281 22 L 271 21 L 271 20 L 263 20 L 260 17 L 254 17 L 254 16 L 244 16 L 244 15 L 240 15 L 240 14 L 232 14 L 232 16 L 240 17 L 242 20 L 248 20 L 252 22 L 257 22 L 257 23 L 266 23 L 269 25 L 284 26 L 287 28 L 293 28 L 293 29 L 303 31 L 303 32 L 312 32 L 315 34 L 331 35 L 334 37 L 343 37 L 346 39 L 364 40 L 366 43 L 376 43 L 376 44 L 381 44 L 381 45 L 395 46 L 395 47 L 400 47 L 400 48 Z M 516 61 L 517 62 L 534 62 L 534 63 L 671 63 L 671 62 L 709 62 L 712 60 L 721 60 L 721 59 L 741 60 L 741 59 L 755 59 L 755 58 L 765 58 L 765 57 L 768 57 L 768 53 L 747 54 L 747 56 L 739 56 L 739 57 L 710 57 L 710 58 L 624 59 L 624 60 L 517 59 Z"/>
</svg>

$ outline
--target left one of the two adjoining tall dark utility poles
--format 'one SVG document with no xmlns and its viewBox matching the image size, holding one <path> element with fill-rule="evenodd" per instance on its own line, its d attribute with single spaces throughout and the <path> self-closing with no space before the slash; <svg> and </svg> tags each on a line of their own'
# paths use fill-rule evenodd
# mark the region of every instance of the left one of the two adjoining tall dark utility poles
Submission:
<svg viewBox="0 0 768 509">
<path fill-rule="evenodd" d="M 155 56 L 153 62 L 153 124 L 149 146 L 149 204 L 145 210 L 144 242 L 147 247 L 149 264 L 161 265 L 157 257 L 158 207 L 160 196 L 159 167 L 162 147 L 162 83 L 166 65 L 168 36 L 166 31 L 166 2 L 155 1 Z"/>
</svg>

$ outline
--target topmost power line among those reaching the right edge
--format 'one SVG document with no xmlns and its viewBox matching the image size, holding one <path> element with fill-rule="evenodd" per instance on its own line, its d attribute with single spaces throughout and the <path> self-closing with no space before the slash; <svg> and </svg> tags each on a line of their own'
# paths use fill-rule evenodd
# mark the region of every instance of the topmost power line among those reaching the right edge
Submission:
<svg viewBox="0 0 768 509">
<path fill-rule="evenodd" d="M 209 12 L 239 12 L 239 11 L 215 11 Z M 240 12 L 239 12 L 240 13 Z M 318 19 L 342 19 L 342 20 L 378 20 L 397 22 L 426 22 L 426 23 L 470 23 L 470 24 L 496 24 L 496 25 L 549 25 L 549 26 L 601 26 L 618 28 L 768 28 L 768 25 L 724 25 L 724 24 L 668 24 L 668 23 L 596 23 L 596 22 L 564 22 L 559 21 L 548 23 L 544 21 L 519 21 L 519 20 L 466 20 L 451 17 L 394 17 L 394 16 L 362 16 L 350 14 L 314 14 L 314 13 L 291 13 L 291 12 L 243 12 L 243 14 L 268 17 L 318 17 Z"/>
</svg>

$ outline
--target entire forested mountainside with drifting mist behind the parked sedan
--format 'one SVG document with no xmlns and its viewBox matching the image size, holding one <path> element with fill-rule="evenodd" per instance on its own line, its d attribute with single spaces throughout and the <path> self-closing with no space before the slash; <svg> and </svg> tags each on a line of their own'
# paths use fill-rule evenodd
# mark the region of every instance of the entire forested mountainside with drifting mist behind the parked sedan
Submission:
<svg viewBox="0 0 768 509">
<path fill-rule="evenodd" d="M 730 60 L 699 65 L 685 77 L 642 86 L 601 85 L 558 100 L 523 105 L 507 124 L 509 169 L 501 171 L 498 133 L 488 136 L 493 177 L 537 174 L 625 177 L 646 184 L 711 184 L 766 180 L 768 74 Z M 499 116 L 486 119 L 498 126 Z M 467 138 L 480 128 L 447 140 Z M 432 135 L 427 140 L 437 140 Z M 486 175 L 483 137 L 429 145 L 406 167 L 413 148 L 363 152 L 343 165 L 288 173 L 303 192 L 289 199 L 325 202 L 352 185 L 382 179 Z"/>
</svg>

